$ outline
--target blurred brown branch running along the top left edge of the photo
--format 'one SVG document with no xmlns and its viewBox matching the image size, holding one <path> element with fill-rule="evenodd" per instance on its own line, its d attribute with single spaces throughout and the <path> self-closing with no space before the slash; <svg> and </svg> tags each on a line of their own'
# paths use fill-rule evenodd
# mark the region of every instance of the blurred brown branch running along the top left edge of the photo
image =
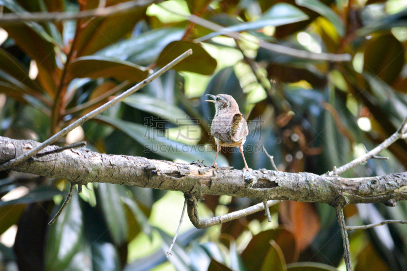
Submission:
<svg viewBox="0 0 407 271">
<path fill-rule="evenodd" d="M 128 13 L 138 7 L 149 6 L 152 3 L 162 1 L 136 0 L 117 4 L 105 8 L 96 8 L 79 12 L 25 12 L 25 13 L 3 13 L 0 16 L 0 24 L 21 24 L 25 21 L 43 22 L 43 21 L 63 21 L 73 19 L 84 19 L 94 17 L 106 17 L 119 13 Z"/>
</svg>

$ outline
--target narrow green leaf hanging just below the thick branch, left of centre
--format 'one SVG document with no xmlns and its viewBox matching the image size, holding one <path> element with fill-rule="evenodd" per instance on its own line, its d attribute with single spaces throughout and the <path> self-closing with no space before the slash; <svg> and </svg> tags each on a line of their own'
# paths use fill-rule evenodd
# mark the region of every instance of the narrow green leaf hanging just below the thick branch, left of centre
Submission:
<svg viewBox="0 0 407 271">
<path fill-rule="evenodd" d="M 96 195 L 114 244 L 123 245 L 127 240 L 128 228 L 126 210 L 119 189 L 120 185 L 101 183 L 98 185 Z"/>
</svg>

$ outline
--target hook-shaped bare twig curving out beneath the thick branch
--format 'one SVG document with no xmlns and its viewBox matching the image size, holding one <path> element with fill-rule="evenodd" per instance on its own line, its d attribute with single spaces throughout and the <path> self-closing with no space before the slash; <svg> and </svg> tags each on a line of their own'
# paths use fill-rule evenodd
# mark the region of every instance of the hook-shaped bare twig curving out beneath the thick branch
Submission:
<svg viewBox="0 0 407 271">
<path fill-rule="evenodd" d="M 275 204 L 280 203 L 281 200 L 268 200 L 267 206 L 272 206 Z M 260 210 L 263 210 L 265 207 L 264 203 L 258 203 L 256 205 L 250 206 L 248 208 L 238 210 L 236 212 L 232 212 L 226 215 L 209 218 L 209 219 L 199 219 L 198 208 L 196 205 L 196 198 L 189 198 L 188 199 L 188 217 L 191 220 L 192 224 L 198 229 L 205 229 L 215 225 L 219 225 L 225 222 L 229 222 L 238 218 L 246 217 L 248 215 L 254 214 Z"/>
</svg>

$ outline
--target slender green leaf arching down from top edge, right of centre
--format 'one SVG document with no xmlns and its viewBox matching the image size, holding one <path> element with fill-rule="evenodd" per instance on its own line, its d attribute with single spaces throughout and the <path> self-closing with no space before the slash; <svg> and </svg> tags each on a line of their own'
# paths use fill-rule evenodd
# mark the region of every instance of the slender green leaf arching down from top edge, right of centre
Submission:
<svg viewBox="0 0 407 271">
<path fill-rule="evenodd" d="M 321 14 L 327 18 L 336 29 L 338 36 L 345 36 L 345 26 L 339 17 L 330 7 L 318 0 L 296 0 L 296 4 L 302 7 L 306 7 L 312 11 L 315 11 L 318 14 Z"/>
</svg>

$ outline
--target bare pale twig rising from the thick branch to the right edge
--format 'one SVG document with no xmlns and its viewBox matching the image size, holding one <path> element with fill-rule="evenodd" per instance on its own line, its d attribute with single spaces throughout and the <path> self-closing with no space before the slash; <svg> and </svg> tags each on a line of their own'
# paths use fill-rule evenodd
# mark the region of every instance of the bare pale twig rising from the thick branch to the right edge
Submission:
<svg viewBox="0 0 407 271">
<path fill-rule="evenodd" d="M 388 139 L 383 141 L 379 146 L 373 148 L 372 150 L 370 150 L 370 152 L 366 153 L 365 155 L 362 155 L 361 157 L 356 158 L 355 160 L 337 168 L 336 170 L 327 172 L 326 174 L 324 174 L 324 176 L 325 175 L 328 175 L 328 176 L 338 175 L 338 174 L 343 173 L 347 170 L 350 170 L 351 168 L 354 168 L 364 162 L 367 162 L 367 160 L 373 158 L 374 156 L 376 156 L 377 154 L 382 152 L 382 150 L 388 148 L 397 139 L 407 137 L 406 130 L 407 130 L 407 117 L 404 118 L 403 123 L 397 129 L 397 131 L 394 134 L 392 134 Z"/>
</svg>

